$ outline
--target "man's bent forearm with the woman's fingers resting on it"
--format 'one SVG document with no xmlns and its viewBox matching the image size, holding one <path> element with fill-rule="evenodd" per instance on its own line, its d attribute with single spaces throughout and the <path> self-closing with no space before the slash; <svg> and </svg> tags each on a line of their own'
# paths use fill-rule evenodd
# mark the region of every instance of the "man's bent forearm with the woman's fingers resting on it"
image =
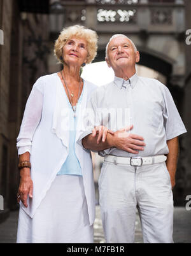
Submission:
<svg viewBox="0 0 191 256">
<path fill-rule="evenodd" d="M 113 145 L 113 135 L 108 133 L 106 137 L 106 141 L 100 141 L 99 144 L 97 144 L 97 136 L 92 136 L 92 134 L 87 135 L 85 138 L 82 139 L 82 144 L 84 148 L 87 148 L 89 150 L 95 150 L 95 151 L 101 151 L 105 150 L 106 148 L 112 148 Z"/>
</svg>

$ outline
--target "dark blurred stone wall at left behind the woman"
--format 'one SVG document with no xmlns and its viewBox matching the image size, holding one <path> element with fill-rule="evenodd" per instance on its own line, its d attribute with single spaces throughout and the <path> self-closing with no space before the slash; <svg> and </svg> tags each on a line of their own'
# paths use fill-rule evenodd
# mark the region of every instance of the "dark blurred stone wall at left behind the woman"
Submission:
<svg viewBox="0 0 191 256">
<path fill-rule="evenodd" d="M 38 14 L 38 6 L 35 10 L 29 13 L 24 1 L 0 0 L 4 33 L 0 45 L 0 195 L 4 211 L 0 211 L 0 221 L 7 209 L 17 208 L 16 138 L 25 103 L 36 79 L 48 73 L 48 15 Z"/>
</svg>

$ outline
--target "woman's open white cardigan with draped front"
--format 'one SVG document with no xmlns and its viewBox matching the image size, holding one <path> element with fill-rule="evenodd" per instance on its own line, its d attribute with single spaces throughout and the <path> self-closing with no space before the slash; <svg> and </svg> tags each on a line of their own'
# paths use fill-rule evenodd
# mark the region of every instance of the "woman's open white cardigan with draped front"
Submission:
<svg viewBox="0 0 191 256">
<path fill-rule="evenodd" d="M 80 161 L 83 185 L 87 199 L 90 225 L 95 218 L 95 189 L 92 158 L 89 150 L 81 145 L 85 129 L 81 125 L 83 111 L 92 92 L 97 88 L 84 81 L 83 98 L 78 105 L 78 130 L 76 131 L 76 156 Z M 34 83 L 27 99 L 24 117 L 17 138 L 18 155 L 30 152 L 31 178 L 34 184 L 33 197 L 27 199 L 28 207 L 22 209 L 32 218 L 46 191 L 68 155 L 69 115 L 64 87 L 57 73 L 41 76 Z M 89 132 L 87 132 L 88 134 Z"/>
</svg>

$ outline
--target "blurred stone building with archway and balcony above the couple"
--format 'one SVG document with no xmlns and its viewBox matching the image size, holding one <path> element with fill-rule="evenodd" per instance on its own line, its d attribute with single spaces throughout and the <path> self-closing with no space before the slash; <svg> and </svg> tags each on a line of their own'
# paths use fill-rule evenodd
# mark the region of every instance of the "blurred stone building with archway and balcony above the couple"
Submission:
<svg viewBox="0 0 191 256">
<path fill-rule="evenodd" d="M 190 53 L 189 50 L 185 52 L 185 29 L 190 17 L 185 1 L 60 0 L 59 3 L 58 12 L 52 15 L 50 24 L 54 34 L 62 29 L 63 24 L 82 24 L 94 29 L 99 35 L 95 61 L 104 60 L 106 43 L 113 34 L 129 36 L 141 54 L 139 64 L 166 77 L 166 85 L 188 129 L 189 108 L 185 108 L 185 104 L 189 101 L 185 99 L 190 96 L 190 91 L 185 86 L 185 74 L 189 73 L 186 71 L 189 65 L 185 63 L 190 61 Z M 180 136 L 180 158 L 173 190 L 174 205 L 179 206 L 185 205 L 185 196 L 191 188 L 188 138 L 189 131 Z"/>
</svg>

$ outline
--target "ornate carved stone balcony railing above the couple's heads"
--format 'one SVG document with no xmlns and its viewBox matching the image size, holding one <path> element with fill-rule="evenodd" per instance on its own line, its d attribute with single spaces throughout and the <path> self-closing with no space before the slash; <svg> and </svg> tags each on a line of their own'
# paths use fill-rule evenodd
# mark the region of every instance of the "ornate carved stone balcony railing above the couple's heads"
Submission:
<svg viewBox="0 0 191 256">
<path fill-rule="evenodd" d="M 60 1 L 63 11 L 54 27 L 82 24 L 98 32 L 182 32 L 185 29 L 183 2 L 157 3 L 153 0 Z M 168 0 L 169 1 L 169 0 Z M 62 16 L 62 17 L 61 17 Z M 127 27 L 128 24 L 128 27 Z"/>
</svg>

